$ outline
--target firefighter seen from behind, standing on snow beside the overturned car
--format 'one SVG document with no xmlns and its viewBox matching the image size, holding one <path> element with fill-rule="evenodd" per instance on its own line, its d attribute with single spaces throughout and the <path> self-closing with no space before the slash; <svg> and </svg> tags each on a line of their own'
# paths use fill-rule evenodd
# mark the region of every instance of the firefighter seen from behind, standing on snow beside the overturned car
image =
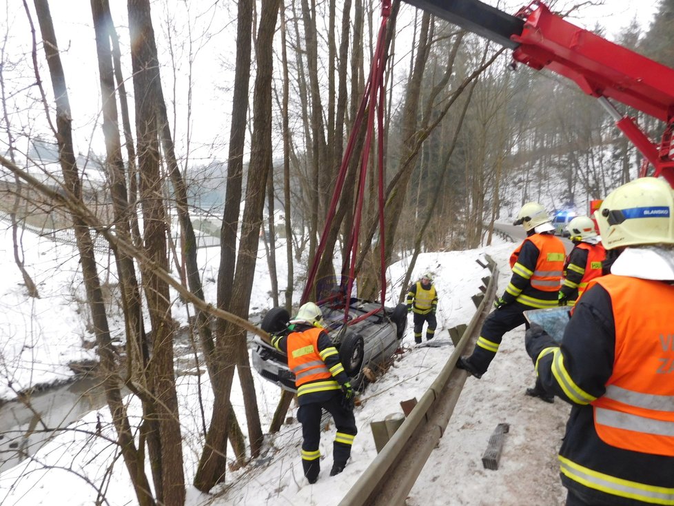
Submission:
<svg viewBox="0 0 674 506">
<path fill-rule="evenodd" d="M 358 430 L 354 418 L 354 389 L 339 353 L 323 330 L 323 314 L 307 302 L 290 320 L 290 332 L 272 337 L 272 345 L 287 354 L 288 367 L 295 374 L 297 419 L 302 424 L 302 467 L 309 483 L 320 472 L 320 417 L 323 409 L 332 415 L 337 429 L 333 443 L 330 476 L 344 470 Z"/>
</svg>

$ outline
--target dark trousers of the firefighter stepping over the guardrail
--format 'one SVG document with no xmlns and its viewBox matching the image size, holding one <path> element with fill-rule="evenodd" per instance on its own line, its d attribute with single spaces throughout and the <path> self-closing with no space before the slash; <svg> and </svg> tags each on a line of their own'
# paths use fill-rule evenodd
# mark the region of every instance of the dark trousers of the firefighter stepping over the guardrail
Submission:
<svg viewBox="0 0 674 506">
<path fill-rule="evenodd" d="M 522 313 L 533 309 L 535 307 L 513 302 L 504 305 L 499 310 L 493 310 L 487 316 L 487 319 L 482 324 L 478 343 L 476 343 L 473 354 L 468 359 L 478 372 L 481 374 L 487 372 L 489 364 L 491 364 L 491 361 L 496 356 L 496 351 L 493 349 L 488 350 L 487 347 L 498 348 L 503 334 L 519 327 L 522 323 L 527 323 L 527 318 L 524 318 L 524 314 Z M 529 328 L 528 323 L 527 328 Z M 480 341 L 483 341 L 483 343 L 486 341 L 484 345 L 487 345 L 487 347 L 480 346 Z"/>
</svg>

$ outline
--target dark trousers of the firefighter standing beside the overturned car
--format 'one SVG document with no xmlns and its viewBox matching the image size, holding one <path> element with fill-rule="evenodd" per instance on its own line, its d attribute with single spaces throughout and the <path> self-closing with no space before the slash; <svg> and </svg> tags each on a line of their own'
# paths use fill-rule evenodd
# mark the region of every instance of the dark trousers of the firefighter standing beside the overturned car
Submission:
<svg viewBox="0 0 674 506">
<path fill-rule="evenodd" d="M 358 434 L 354 412 L 342 407 L 341 401 L 342 393 L 336 392 L 328 401 L 309 403 L 299 407 L 297 419 L 302 424 L 303 451 L 318 451 L 318 444 L 320 443 L 320 416 L 323 414 L 323 409 L 332 415 L 337 432 L 351 436 Z M 334 463 L 344 466 L 349 460 L 349 456 L 351 456 L 351 445 L 334 441 L 332 449 Z M 314 458 L 311 461 L 302 459 L 302 466 L 304 468 L 304 475 L 309 480 L 315 480 L 318 477 L 318 472 L 320 471 L 319 458 Z"/>
</svg>

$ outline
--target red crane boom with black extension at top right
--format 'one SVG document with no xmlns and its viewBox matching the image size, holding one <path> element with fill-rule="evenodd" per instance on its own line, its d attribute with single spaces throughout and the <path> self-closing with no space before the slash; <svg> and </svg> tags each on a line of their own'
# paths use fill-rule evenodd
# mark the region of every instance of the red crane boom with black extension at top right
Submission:
<svg viewBox="0 0 674 506">
<path fill-rule="evenodd" d="M 478 0 L 405 1 L 513 48 L 517 62 L 571 79 L 599 99 L 617 128 L 653 165 L 655 176 L 664 176 L 674 186 L 674 69 L 565 21 L 538 0 L 513 17 Z M 518 25 L 513 19 L 524 22 Z M 509 42 L 504 43 L 507 34 Z M 609 99 L 664 121 L 660 143 L 653 142 L 634 118 L 620 114 Z"/>
</svg>

